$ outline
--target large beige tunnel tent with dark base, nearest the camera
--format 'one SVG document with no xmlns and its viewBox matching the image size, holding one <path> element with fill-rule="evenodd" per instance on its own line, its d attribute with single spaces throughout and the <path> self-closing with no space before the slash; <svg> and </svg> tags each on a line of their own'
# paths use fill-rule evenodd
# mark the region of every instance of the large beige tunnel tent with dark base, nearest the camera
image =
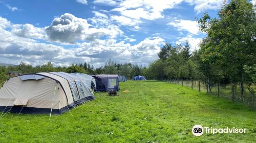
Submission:
<svg viewBox="0 0 256 143">
<path fill-rule="evenodd" d="M 0 111 L 61 114 L 94 99 L 93 94 L 74 98 L 69 80 L 50 73 L 26 74 L 10 78 L 0 89 Z M 82 89 L 88 88 L 82 85 Z M 78 89 L 77 89 L 78 90 Z M 78 99 L 77 99 L 78 98 Z M 76 104 L 79 102 L 79 104 Z"/>
</svg>

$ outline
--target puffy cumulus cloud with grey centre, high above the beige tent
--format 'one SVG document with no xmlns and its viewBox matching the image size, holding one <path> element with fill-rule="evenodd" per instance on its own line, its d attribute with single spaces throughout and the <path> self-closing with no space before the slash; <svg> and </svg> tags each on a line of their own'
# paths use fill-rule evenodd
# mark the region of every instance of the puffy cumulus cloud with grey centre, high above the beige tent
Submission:
<svg viewBox="0 0 256 143">
<path fill-rule="evenodd" d="M 99 16 L 98 18 L 95 17 L 91 19 L 96 23 L 96 26 L 94 26 L 95 28 L 90 25 L 86 19 L 77 18 L 69 13 L 65 13 L 60 17 L 54 18 L 51 26 L 46 27 L 46 33 L 48 36 L 47 39 L 50 41 L 74 44 L 77 41 L 83 40 L 93 41 L 102 36 L 116 38 L 117 35 L 123 34 L 119 27 L 107 24 L 108 21 L 105 21 L 107 19 L 104 18 L 106 15 L 99 12 L 94 13 Z M 106 22 L 104 27 L 101 25 L 101 23 L 99 24 L 99 27 L 97 27 L 97 22 L 99 22 L 99 19 L 101 19 L 102 22 Z"/>
</svg>

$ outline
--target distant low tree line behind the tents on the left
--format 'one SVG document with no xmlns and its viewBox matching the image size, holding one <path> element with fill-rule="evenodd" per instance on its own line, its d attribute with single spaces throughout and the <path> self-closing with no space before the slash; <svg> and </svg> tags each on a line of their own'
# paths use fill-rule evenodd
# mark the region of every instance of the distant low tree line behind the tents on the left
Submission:
<svg viewBox="0 0 256 143">
<path fill-rule="evenodd" d="M 55 67 L 51 62 L 46 64 L 37 65 L 33 67 L 31 64 L 26 64 L 21 62 L 17 66 L 0 66 L 0 82 L 4 82 L 9 77 L 7 75 L 8 71 L 19 71 L 22 74 L 29 73 L 40 73 L 40 72 L 52 72 L 52 71 L 63 71 L 66 73 L 84 73 L 84 74 L 111 74 L 111 75 L 122 75 L 128 79 L 132 79 L 134 76 L 145 75 L 146 66 L 142 64 L 132 64 L 132 63 L 116 63 L 111 61 L 111 59 L 105 62 L 104 66 L 94 67 L 90 63 L 84 62 L 79 64 L 72 64 L 68 67 L 57 66 Z"/>
</svg>

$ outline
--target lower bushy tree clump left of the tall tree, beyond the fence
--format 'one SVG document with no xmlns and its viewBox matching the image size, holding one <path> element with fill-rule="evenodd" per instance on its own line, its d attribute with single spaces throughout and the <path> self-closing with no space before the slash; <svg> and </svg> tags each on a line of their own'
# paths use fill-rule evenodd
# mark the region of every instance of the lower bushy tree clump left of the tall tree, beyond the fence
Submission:
<svg viewBox="0 0 256 143">
<path fill-rule="evenodd" d="M 192 79 L 195 73 L 194 61 L 190 59 L 188 41 L 181 44 L 165 44 L 158 54 L 159 60 L 148 67 L 147 76 L 152 79 L 178 78 Z"/>
</svg>

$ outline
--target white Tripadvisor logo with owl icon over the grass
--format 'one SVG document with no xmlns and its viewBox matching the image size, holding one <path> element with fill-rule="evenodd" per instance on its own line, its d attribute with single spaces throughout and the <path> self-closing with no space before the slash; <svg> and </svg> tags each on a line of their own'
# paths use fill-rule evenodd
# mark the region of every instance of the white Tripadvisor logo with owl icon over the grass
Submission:
<svg viewBox="0 0 256 143">
<path fill-rule="evenodd" d="M 245 133 L 246 129 L 238 129 L 238 128 L 212 128 L 212 127 L 202 127 L 201 125 L 195 125 L 192 128 L 192 133 L 195 136 L 200 136 L 203 133 L 210 133 L 210 134 L 216 134 L 216 133 Z"/>
</svg>

